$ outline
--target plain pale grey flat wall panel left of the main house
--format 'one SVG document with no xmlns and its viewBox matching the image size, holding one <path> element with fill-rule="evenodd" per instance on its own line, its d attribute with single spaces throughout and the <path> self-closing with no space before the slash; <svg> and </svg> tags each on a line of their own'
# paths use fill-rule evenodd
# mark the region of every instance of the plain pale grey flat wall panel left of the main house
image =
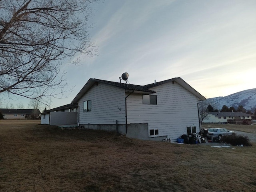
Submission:
<svg viewBox="0 0 256 192">
<path fill-rule="evenodd" d="M 51 112 L 50 125 L 77 124 L 77 112 Z"/>
</svg>

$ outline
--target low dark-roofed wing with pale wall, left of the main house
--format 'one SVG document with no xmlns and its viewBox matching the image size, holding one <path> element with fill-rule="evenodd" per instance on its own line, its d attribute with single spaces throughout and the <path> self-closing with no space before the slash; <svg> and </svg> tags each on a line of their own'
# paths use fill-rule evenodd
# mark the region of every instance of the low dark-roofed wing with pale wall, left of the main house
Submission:
<svg viewBox="0 0 256 192">
<path fill-rule="evenodd" d="M 41 114 L 41 124 L 77 124 L 77 107 L 78 106 L 74 104 L 67 104 L 50 110 L 46 110 Z"/>
</svg>

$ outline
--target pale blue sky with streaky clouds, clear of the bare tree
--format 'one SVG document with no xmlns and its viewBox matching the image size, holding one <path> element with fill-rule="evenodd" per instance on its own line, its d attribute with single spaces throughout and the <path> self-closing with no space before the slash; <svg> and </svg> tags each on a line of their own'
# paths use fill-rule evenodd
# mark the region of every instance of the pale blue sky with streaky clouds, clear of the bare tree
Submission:
<svg viewBox="0 0 256 192">
<path fill-rule="evenodd" d="M 140 85 L 181 77 L 206 98 L 256 88 L 256 0 L 105 0 L 93 8 L 98 56 L 63 64 L 75 88 L 51 108 L 70 103 L 89 78 L 118 82 L 124 72 Z"/>
</svg>

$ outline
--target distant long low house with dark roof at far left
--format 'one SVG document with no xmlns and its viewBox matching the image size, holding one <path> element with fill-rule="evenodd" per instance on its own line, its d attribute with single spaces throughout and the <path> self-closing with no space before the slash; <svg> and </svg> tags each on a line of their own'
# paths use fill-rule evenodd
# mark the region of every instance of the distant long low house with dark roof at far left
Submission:
<svg viewBox="0 0 256 192">
<path fill-rule="evenodd" d="M 4 119 L 39 118 L 39 109 L 0 109 Z"/>
</svg>

